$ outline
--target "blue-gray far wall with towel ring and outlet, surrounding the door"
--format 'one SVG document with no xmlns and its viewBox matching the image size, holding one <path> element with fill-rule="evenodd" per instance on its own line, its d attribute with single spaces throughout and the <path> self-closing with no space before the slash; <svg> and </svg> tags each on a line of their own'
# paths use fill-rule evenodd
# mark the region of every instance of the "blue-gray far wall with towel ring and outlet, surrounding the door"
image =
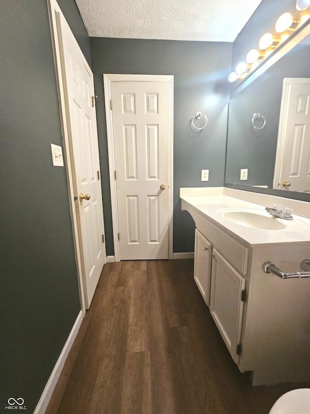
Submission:
<svg viewBox="0 0 310 414">
<path fill-rule="evenodd" d="M 109 166 L 103 73 L 174 75 L 174 214 L 173 251 L 194 249 L 194 223 L 181 211 L 180 187 L 224 183 L 227 104 L 232 44 L 91 37 L 98 138 L 103 185 L 107 254 L 113 255 Z M 202 132 L 190 128 L 197 111 L 209 121 Z M 209 169 L 209 182 L 201 170 Z"/>
</svg>

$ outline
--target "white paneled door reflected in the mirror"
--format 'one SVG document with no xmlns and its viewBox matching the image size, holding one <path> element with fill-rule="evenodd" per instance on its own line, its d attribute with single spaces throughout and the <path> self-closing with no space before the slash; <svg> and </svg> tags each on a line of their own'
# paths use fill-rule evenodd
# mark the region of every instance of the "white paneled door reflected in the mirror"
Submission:
<svg viewBox="0 0 310 414">
<path fill-rule="evenodd" d="M 310 79 L 285 78 L 274 188 L 310 193 L 309 137 Z"/>
</svg>

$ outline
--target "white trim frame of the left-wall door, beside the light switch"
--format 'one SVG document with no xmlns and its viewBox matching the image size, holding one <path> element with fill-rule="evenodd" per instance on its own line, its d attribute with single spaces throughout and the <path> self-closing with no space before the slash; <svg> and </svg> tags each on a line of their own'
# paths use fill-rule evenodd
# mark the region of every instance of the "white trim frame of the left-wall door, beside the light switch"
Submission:
<svg viewBox="0 0 310 414">
<path fill-rule="evenodd" d="M 83 317 L 84 317 L 86 313 L 85 291 L 84 291 L 85 286 L 83 282 L 83 270 L 82 270 L 81 254 L 80 254 L 81 242 L 79 239 L 79 232 L 78 232 L 78 218 L 77 218 L 75 201 L 74 201 L 74 197 L 75 197 L 74 185 L 73 185 L 74 159 L 73 159 L 72 150 L 70 149 L 70 141 L 69 141 L 69 133 L 68 133 L 69 127 L 68 127 L 67 112 L 66 112 L 66 99 L 64 95 L 65 86 L 64 86 L 64 79 L 62 76 L 62 60 L 61 60 L 61 52 L 60 52 L 60 46 L 59 46 L 62 40 L 59 37 L 58 30 L 57 30 L 57 17 L 59 17 L 59 15 L 62 15 L 62 11 L 56 0 L 47 0 L 47 6 L 48 6 L 49 24 L 50 24 L 51 37 L 52 37 L 52 45 L 53 45 L 53 55 L 54 55 L 56 82 L 57 82 L 57 89 L 58 89 L 58 98 L 59 98 L 59 109 L 60 109 L 60 118 L 61 118 L 61 126 L 62 126 L 63 152 L 64 152 L 64 159 L 66 163 L 69 206 L 70 206 L 70 214 L 71 214 L 71 223 L 72 223 L 77 273 L 78 273 L 78 291 L 79 291 L 81 310 L 83 312 Z M 78 46 L 78 50 L 80 51 L 80 57 L 84 65 L 86 67 L 89 67 L 88 62 L 86 61 L 79 46 Z M 97 125 L 95 125 L 95 128 L 97 129 Z M 100 196 L 100 200 L 102 203 L 101 188 L 99 190 L 100 190 L 99 196 Z"/>
</svg>

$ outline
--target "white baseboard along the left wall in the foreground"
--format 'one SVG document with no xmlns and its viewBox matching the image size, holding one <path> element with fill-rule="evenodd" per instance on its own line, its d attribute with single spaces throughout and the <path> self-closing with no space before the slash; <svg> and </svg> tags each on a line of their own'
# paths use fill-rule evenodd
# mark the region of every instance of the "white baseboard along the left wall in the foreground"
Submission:
<svg viewBox="0 0 310 414">
<path fill-rule="evenodd" d="M 83 313 L 82 311 L 79 312 L 78 317 L 75 321 L 75 324 L 73 325 L 73 328 L 70 332 L 70 335 L 68 336 L 68 339 L 66 341 L 66 343 L 64 344 L 64 347 L 62 348 L 62 353 L 60 354 L 54 369 L 47 381 L 47 384 L 44 388 L 44 391 L 42 393 L 42 396 L 33 412 L 33 414 L 44 414 L 46 409 L 47 409 L 47 405 L 49 403 L 49 400 L 53 394 L 53 391 L 55 389 L 55 386 L 57 384 L 57 381 L 60 377 L 60 374 L 62 372 L 62 368 L 63 365 L 67 359 L 67 356 L 69 354 L 69 351 L 72 347 L 72 344 L 74 342 L 74 340 L 76 339 L 76 336 L 78 334 L 78 330 L 79 327 L 81 326 L 83 320 Z"/>
</svg>

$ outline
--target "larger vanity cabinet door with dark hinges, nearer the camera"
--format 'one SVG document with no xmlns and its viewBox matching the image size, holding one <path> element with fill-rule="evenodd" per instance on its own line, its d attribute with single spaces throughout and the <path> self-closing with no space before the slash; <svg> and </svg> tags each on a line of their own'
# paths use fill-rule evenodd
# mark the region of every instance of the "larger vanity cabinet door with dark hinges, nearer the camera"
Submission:
<svg viewBox="0 0 310 414">
<path fill-rule="evenodd" d="M 216 250 L 212 255 L 210 312 L 235 363 L 239 360 L 246 280 Z"/>
</svg>

